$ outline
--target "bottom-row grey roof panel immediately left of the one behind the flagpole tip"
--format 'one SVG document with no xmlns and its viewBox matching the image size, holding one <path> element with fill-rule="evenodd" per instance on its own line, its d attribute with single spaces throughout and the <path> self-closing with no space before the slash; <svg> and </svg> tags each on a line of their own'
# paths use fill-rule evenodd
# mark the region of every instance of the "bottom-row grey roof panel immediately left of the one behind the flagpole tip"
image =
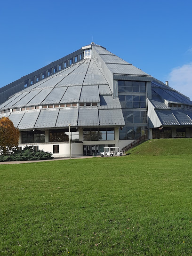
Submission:
<svg viewBox="0 0 192 256">
<path fill-rule="evenodd" d="M 41 110 L 34 128 L 55 127 L 59 109 Z"/>
</svg>

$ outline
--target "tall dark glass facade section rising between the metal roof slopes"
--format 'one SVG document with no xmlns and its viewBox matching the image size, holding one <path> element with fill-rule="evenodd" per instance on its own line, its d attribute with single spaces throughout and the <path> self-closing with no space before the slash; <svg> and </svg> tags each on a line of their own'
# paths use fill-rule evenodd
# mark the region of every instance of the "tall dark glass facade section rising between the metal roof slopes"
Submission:
<svg viewBox="0 0 192 256">
<path fill-rule="evenodd" d="M 120 140 L 148 135 L 146 82 L 118 80 L 118 95 L 125 120 L 125 126 L 119 130 Z"/>
</svg>

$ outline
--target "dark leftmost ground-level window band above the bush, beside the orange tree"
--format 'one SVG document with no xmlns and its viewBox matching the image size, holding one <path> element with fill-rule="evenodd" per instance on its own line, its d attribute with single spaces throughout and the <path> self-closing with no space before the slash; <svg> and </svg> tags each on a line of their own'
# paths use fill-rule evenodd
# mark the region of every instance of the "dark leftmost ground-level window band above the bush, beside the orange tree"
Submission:
<svg viewBox="0 0 192 256">
<path fill-rule="evenodd" d="M 34 130 L 22 132 L 22 143 L 45 142 L 45 131 Z"/>
</svg>

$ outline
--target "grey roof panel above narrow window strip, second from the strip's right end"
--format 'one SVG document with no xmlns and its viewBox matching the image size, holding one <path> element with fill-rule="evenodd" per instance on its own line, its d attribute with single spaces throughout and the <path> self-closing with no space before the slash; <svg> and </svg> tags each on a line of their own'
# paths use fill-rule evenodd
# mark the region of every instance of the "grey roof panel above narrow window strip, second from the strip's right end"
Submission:
<svg viewBox="0 0 192 256">
<path fill-rule="evenodd" d="M 79 102 L 82 85 L 68 87 L 60 103 Z"/>
</svg>

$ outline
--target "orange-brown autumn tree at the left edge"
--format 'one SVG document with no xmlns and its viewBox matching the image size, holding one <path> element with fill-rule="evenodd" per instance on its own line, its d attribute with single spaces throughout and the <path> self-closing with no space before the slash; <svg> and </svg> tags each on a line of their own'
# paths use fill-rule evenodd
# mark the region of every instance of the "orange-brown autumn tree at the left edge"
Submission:
<svg viewBox="0 0 192 256">
<path fill-rule="evenodd" d="M 8 117 L 0 119 L 0 153 L 9 154 L 19 144 L 19 130 Z"/>
</svg>

